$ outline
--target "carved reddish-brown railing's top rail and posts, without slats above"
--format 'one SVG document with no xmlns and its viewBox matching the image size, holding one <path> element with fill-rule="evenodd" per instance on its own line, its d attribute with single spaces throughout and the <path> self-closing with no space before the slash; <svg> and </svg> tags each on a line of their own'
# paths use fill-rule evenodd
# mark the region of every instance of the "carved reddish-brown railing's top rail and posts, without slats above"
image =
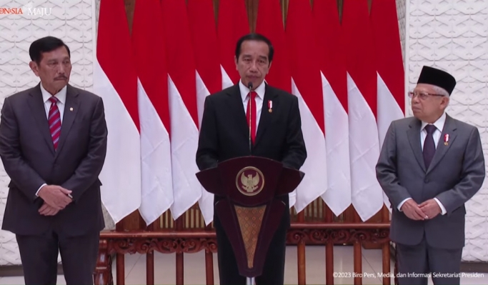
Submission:
<svg viewBox="0 0 488 285">
<path fill-rule="evenodd" d="M 390 270 L 389 223 L 294 223 L 287 234 L 289 244 L 298 246 L 298 284 L 306 284 L 304 246 L 326 246 L 326 281 L 334 284 L 334 244 L 354 244 L 354 272 L 362 273 L 362 242 L 382 246 L 383 272 Z M 181 255 L 176 259 L 176 284 L 184 284 L 183 254 L 205 251 L 206 284 L 214 284 L 213 253 L 217 244 L 213 230 L 184 231 L 103 231 L 100 236 L 99 258 L 94 279 L 96 285 L 113 284 L 111 256 L 116 254 L 116 284 L 124 285 L 124 254 L 146 254 L 146 284 L 154 284 L 154 251 Z M 359 276 L 359 275 L 358 275 Z M 396 283 L 396 282 L 395 282 Z M 362 278 L 355 277 L 354 284 L 362 284 Z M 383 284 L 390 284 L 384 277 Z"/>
</svg>

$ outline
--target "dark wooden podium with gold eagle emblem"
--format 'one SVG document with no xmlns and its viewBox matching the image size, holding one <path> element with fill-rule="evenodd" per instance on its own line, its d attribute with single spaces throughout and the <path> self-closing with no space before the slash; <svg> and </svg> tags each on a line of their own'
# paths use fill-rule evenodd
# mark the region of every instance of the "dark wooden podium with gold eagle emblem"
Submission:
<svg viewBox="0 0 488 285">
<path fill-rule="evenodd" d="M 242 156 L 200 171 L 196 177 L 206 191 L 224 197 L 214 209 L 231 242 L 239 274 L 254 284 L 282 215 L 289 211 L 279 196 L 294 191 L 304 173 L 272 159 Z"/>
</svg>

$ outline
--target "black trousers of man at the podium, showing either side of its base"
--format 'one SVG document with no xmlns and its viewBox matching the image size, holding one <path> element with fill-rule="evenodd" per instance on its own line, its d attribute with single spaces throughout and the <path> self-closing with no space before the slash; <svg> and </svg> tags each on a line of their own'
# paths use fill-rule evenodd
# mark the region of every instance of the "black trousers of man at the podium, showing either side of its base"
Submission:
<svg viewBox="0 0 488 285">
<path fill-rule="evenodd" d="M 214 227 L 217 236 L 220 284 L 245 285 L 246 277 L 239 275 L 234 251 L 216 215 L 214 217 Z M 284 283 L 284 259 L 288 229 L 289 219 L 284 216 L 269 244 L 263 273 L 261 276 L 256 277 L 257 285 L 282 285 Z"/>
</svg>

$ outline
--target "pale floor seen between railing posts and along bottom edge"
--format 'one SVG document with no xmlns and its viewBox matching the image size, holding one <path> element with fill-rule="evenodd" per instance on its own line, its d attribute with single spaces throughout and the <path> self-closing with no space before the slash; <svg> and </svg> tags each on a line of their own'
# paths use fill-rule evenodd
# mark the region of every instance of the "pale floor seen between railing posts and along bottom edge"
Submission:
<svg viewBox="0 0 488 285">
<path fill-rule="evenodd" d="M 334 248 L 334 271 L 351 273 L 353 271 L 353 251 L 351 246 L 336 246 Z M 325 284 L 325 249 L 322 246 L 307 246 L 306 251 L 307 284 Z M 115 264 L 115 262 L 114 262 Z M 125 257 L 125 284 L 146 284 L 146 258 L 144 255 L 134 254 Z M 392 263 L 392 273 L 393 273 Z M 175 256 L 169 254 L 154 254 L 155 284 L 175 284 L 176 269 Z M 184 284 L 205 284 L 204 254 L 186 254 L 184 256 Z M 285 265 L 285 284 L 297 284 L 297 248 L 289 246 Z M 362 271 L 374 275 L 363 278 L 363 284 L 382 284 L 377 278 L 382 272 L 382 251 L 370 249 L 362 251 Z M 216 255 L 214 255 L 214 280 L 219 284 Z M 115 279 L 115 269 L 113 270 Z M 462 277 L 461 284 L 488 284 L 488 274 L 479 274 L 480 278 Z M 115 281 L 115 280 L 114 280 Z M 23 277 L 0 277 L 0 284 L 24 284 Z M 58 284 L 66 284 L 62 275 Z M 334 284 L 354 284 L 352 278 L 335 278 Z M 392 284 L 393 279 L 392 279 Z M 429 280 L 429 284 L 432 281 Z"/>
</svg>

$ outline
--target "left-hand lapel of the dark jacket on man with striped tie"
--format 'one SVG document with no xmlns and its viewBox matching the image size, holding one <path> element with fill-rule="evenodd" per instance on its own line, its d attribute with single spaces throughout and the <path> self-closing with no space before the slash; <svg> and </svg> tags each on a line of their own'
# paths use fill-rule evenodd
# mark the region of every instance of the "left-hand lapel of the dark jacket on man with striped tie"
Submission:
<svg viewBox="0 0 488 285">
<path fill-rule="evenodd" d="M 51 132 L 49 131 L 49 124 L 47 122 L 46 107 L 44 106 L 44 100 L 42 99 L 41 86 L 38 84 L 31 93 L 29 93 L 31 99 L 29 100 L 29 108 L 31 114 L 34 116 L 34 120 L 38 126 L 37 129 L 41 132 L 41 136 L 46 141 L 47 147 L 54 155 L 54 145 L 51 139 Z"/>
</svg>

